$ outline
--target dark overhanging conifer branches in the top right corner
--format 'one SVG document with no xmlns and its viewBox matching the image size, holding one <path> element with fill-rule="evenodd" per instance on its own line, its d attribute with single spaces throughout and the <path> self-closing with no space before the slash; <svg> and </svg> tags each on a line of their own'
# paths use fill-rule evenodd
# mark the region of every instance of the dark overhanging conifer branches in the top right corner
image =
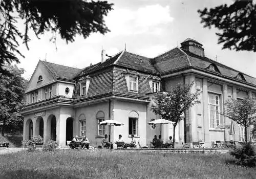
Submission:
<svg viewBox="0 0 256 179">
<path fill-rule="evenodd" d="M 230 6 L 198 10 L 204 27 L 214 26 L 221 32 L 218 43 L 222 49 L 256 52 L 256 4 L 252 0 L 237 0 Z"/>
</svg>

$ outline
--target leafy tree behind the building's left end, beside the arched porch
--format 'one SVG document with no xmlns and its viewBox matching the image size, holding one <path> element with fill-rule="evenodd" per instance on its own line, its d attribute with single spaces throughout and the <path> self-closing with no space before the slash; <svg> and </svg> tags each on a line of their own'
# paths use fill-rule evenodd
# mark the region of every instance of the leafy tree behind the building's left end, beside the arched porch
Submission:
<svg viewBox="0 0 256 179">
<path fill-rule="evenodd" d="M 22 129 L 23 117 L 18 111 L 24 105 L 25 87 L 27 80 L 21 75 L 24 69 L 19 69 L 16 65 L 4 65 L 4 69 L 10 72 L 11 76 L 0 73 L 0 123 L 2 136 L 6 126 Z"/>
</svg>

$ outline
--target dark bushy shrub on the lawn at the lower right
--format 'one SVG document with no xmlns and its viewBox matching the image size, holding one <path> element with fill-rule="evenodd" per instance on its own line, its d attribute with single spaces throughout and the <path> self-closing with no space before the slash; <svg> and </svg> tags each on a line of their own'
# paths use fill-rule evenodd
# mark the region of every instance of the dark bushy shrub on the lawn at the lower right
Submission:
<svg viewBox="0 0 256 179">
<path fill-rule="evenodd" d="M 239 160 L 238 164 L 255 167 L 256 165 L 256 155 L 253 146 L 249 143 L 243 143 L 241 146 L 234 148 L 230 151 L 236 159 Z"/>
</svg>

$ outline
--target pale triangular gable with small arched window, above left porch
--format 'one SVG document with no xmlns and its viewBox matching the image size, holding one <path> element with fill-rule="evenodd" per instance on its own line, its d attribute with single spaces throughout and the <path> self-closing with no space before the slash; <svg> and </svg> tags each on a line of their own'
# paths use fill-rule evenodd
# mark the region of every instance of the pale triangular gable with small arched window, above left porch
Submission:
<svg viewBox="0 0 256 179">
<path fill-rule="evenodd" d="M 38 81 L 39 76 L 42 77 L 42 80 L 40 81 Z M 29 80 L 26 90 L 29 91 L 30 89 L 48 84 L 54 80 L 56 79 L 53 74 L 46 68 L 44 64 L 41 63 L 41 61 L 39 61 L 32 77 Z"/>
</svg>

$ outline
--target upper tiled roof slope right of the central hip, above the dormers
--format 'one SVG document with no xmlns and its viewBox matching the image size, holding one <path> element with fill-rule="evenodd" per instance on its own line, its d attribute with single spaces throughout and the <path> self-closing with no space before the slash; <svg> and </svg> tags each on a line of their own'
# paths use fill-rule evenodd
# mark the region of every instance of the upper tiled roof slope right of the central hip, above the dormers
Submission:
<svg viewBox="0 0 256 179">
<path fill-rule="evenodd" d="M 134 70 L 159 74 L 155 66 L 151 63 L 151 60 L 151 58 L 124 51 L 116 64 Z"/>
</svg>

